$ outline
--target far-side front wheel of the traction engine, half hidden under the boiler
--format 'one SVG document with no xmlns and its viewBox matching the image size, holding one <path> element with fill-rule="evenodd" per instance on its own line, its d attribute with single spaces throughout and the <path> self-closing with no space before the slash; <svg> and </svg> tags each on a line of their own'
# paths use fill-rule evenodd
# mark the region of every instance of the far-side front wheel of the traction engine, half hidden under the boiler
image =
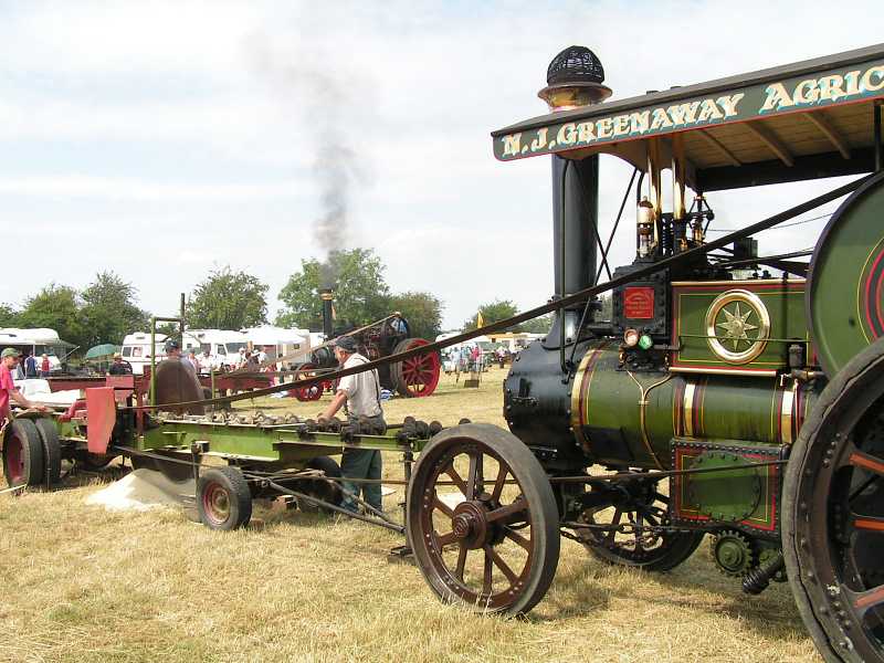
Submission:
<svg viewBox="0 0 884 663">
<path fill-rule="evenodd" d="M 588 508 L 581 515 L 587 525 L 622 526 L 617 529 L 578 529 L 586 549 L 615 566 L 667 571 L 685 561 L 703 543 L 703 532 L 672 533 L 669 495 L 660 481 L 625 482 L 609 505 Z"/>
</svg>

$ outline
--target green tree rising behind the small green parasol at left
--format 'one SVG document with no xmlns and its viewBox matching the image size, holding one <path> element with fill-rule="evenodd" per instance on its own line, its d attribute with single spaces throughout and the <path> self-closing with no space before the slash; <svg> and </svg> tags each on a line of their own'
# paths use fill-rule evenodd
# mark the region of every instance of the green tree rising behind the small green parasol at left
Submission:
<svg viewBox="0 0 884 663">
<path fill-rule="evenodd" d="M 86 347 L 122 344 L 133 332 L 148 329 L 150 316 L 138 307 L 138 291 L 114 272 L 99 272 L 82 293 L 80 311 Z"/>
</svg>

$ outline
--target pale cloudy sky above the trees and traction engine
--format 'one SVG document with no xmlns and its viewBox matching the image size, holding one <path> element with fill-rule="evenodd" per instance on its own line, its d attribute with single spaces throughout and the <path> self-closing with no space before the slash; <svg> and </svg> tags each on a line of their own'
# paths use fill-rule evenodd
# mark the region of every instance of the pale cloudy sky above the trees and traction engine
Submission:
<svg viewBox="0 0 884 663">
<path fill-rule="evenodd" d="M 302 260 L 361 246 L 394 292 L 442 299 L 445 328 L 532 308 L 552 293 L 549 157 L 498 162 L 490 133 L 546 112 L 556 53 L 592 49 L 617 99 L 871 45 L 882 19 L 871 1 L 0 0 L 0 303 L 112 270 L 170 315 L 230 265 L 269 284 L 272 319 Z M 602 157 L 603 236 L 630 172 Z M 708 199 L 735 228 L 828 188 Z M 612 264 L 633 250 L 621 232 Z"/>
</svg>

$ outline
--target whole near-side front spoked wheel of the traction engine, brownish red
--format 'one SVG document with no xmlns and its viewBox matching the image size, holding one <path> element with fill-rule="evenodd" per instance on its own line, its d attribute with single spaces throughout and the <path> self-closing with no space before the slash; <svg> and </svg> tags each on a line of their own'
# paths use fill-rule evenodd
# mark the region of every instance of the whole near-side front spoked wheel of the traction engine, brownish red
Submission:
<svg viewBox="0 0 884 663">
<path fill-rule="evenodd" d="M 546 593 L 559 559 L 549 480 L 518 438 L 470 423 L 433 438 L 408 491 L 418 566 L 444 601 L 524 613 Z"/>
</svg>

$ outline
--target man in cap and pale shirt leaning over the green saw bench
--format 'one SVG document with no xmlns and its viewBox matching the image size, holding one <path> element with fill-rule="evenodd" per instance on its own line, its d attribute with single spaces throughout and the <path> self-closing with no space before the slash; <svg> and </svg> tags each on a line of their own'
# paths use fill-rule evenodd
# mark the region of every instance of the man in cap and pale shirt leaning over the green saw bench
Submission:
<svg viewBox="0 0 884 663">
<path fill-rule="evenodd" d="M 368 364 L 368 359 L 356 351 L 356 340 L 351 336 L 341 336 L 336 339 L 334 348 L 335 358 L 341 368 L 352 368 Z M 387 424 L 383 421 L 383 410 L 380 407 L 380 378 L 378 378 L 377 370 L 366 370 L 340 378 L 335 397 L 319 418 L 332 419 L 345 403 L 351 424 L 358 422 L 359 419 L 367 418 L 375 431 L 386 432 Z M 380 480 L 380 473 L 381 457 L 379 451 L 370 449 L 344 450 L 340 459 L 340 474 L 344 478 Z M 380 483 L 361 485 L 347 481 L 341 483 L 344 490 L 354 495 L 359 495 L 359 488 L 361 487 L 362 498 L 369 506 L 383 511 Z M 341 506 L 352 512 L 357 511 L 356 502 L 346 494 Z"/>
</svg>

